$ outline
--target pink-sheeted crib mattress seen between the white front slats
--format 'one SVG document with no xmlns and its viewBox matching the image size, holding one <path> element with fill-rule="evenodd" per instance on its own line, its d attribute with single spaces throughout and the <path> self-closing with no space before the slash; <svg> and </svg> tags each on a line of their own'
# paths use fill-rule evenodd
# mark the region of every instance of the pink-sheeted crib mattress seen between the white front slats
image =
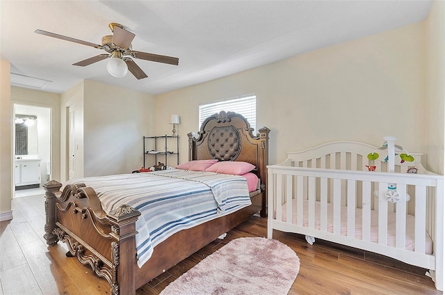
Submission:
<svg viewBox="0 0 445 295">
<path fill-rule="evenodd" d="M 303 226 L 309 227 L 309 201 L 303 201 Z M 292 200 L 292 212 L 297 212 L 297 200 Z M 333 232 L 334 230 L 334 216 L 333 205 L 327 203 L 327 232 Z M 346 206 L 341 206 L 341 235 L 346 236 L 348 233 L 348 209 Z M 297 216 L 292 216 L 293 224 L 297 224 Z M 275 218 L 277 219 L 277 218 Z M 315 205 L 315 221 L 314 228 L 321 230 L 321 206 L 320 202 L 316 202 Z M 286 222 L 286 203 L 282 206 L 282 221 Z M 396 246 L 396 214 L 394 212 L 388 212 L 388 237 L 387 245 Z M 432 254 L 432 240 L 430 235 L 425 231 L 426 245 L 425 253 Z M 362 239 L 362 209 L 355 209 L 355 239 Z M 405 249 L 414 251 L 414 216 L 407 214 L 406 216 L 406 236 L 405 236 Z M 378 211 L 371 210 L 371 241 L 378 243 Z"/>
</svg>

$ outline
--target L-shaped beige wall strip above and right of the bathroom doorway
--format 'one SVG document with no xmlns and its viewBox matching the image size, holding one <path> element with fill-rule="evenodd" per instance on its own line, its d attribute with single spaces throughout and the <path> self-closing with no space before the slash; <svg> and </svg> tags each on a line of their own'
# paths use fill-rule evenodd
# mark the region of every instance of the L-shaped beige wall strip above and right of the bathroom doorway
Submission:
<svg viewBox="0 0 445 295">
<path fill-rule="evenodd" d="M 60 181 L 60 97 L 58 93 L 11 87 L 13 104 L 51 109 L 51 179 Z"/>
</svg>

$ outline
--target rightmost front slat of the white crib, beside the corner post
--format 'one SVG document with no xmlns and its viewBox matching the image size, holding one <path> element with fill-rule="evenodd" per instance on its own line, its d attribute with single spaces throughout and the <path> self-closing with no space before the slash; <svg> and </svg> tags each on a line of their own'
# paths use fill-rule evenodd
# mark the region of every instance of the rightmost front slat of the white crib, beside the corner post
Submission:
<svg viewBox="0 0 445 295">
<path fill-rule="evenodd" d="M 414 251 L 425 253 L 426 229 L 426 186 L 416 186 L 416 204 L 414 209 Z"/>
</svg>

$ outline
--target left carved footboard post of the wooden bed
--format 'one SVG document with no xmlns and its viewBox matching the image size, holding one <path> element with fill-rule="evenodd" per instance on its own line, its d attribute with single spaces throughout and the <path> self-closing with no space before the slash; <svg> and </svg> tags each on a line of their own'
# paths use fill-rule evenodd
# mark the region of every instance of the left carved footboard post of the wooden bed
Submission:
<svg viewBox="0 0 445 295">
<path fill-rule="evenodd" d="M 43 184 L 45 189 L 44 198 L 44 212 L 46 216 L 46 221 L 44 224 L 44 239 L 47 240 L 49 246 L 54 246 L 58 242 L 58 237 L 54 234 L 54 229 L 56 228 L 56 192 L 59 192 L 62 184 L 56 182 L 56 180 L 51 180 Z"/>
</svg>

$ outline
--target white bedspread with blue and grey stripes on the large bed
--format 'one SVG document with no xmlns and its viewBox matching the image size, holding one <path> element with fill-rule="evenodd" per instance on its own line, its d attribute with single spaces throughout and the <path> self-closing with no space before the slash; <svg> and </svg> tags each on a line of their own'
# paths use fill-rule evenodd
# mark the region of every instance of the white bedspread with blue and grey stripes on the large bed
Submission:
<svg viewBox="0 0 445 295">
<path fill-rule="evenodd" d="M 170 169 L 86 177 L 66 184 L 72 183 L 95 189 L 107 213 L 123 204 L 138 209 L 139 267 L 152 256 L 154 246 L 172 234 L 251 204 L 246 180 L 235 175 Z"/>
</svg>

